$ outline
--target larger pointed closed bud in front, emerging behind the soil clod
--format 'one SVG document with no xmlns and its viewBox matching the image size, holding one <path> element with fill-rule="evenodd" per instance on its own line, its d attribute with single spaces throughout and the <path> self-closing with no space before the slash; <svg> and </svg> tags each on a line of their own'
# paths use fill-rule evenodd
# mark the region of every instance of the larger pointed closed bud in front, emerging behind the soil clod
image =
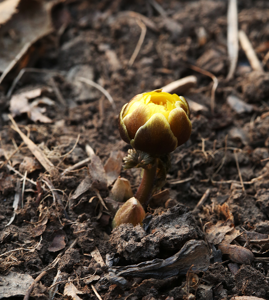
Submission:
<svg viewBox="0 0 269 300">
<path fill-rule="evenodd" d="M 127 200 L 122 207 L 116 212 L 116 215 L 112 221 L 112 228 L 119 226 L 120 224 L 132 223 L 134 226 L 141 224 L 146 213 L 140 202 L 132 197 Z"/>
</svg>

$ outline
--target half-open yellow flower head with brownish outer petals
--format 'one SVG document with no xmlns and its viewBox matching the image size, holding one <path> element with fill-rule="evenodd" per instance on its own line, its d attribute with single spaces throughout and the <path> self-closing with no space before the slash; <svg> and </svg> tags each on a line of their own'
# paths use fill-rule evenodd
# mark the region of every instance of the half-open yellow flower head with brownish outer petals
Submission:
<svg viewBox="0 0 269 300">
<path fill-rule="evenodd" d="M 138 94 L 119 113 L 119 132 L 134 149 L 150 154 L 174 151 L 191 134 L 189 105 L 184 97 L 161 89 Z"/>
</svg>

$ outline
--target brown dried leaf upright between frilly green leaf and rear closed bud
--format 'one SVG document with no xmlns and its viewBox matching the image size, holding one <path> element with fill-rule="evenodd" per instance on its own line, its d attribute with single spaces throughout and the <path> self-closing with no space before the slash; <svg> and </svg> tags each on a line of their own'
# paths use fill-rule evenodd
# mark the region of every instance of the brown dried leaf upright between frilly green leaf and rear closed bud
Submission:
<svg viewBox="0 0 269 300">
<path fill-rule="evenodd" d="M 124 152 L 122 151 L 112 151 L 110 157 L 104 165 L 104 170 L 107 174 L 107 186 L 115 181 L 122 169 L 122 158 L 124 157 Z"/>
</svg>

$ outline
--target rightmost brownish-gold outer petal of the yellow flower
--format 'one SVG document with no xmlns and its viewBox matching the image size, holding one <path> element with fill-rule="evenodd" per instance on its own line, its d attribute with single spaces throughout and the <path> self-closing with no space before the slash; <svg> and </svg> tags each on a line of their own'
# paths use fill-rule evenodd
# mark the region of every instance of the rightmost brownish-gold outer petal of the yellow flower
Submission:
<svg viewBox="0 0 269 300">
<path fill-rule="evenodd" d="M 171 110 L 168 122 L 170 124 L 171 131 L 177 138 L 177 146 L 180 146 L 189 140 L 192 132 L 192 123 L 183 108 L 177 107 Z"/>
</svg>

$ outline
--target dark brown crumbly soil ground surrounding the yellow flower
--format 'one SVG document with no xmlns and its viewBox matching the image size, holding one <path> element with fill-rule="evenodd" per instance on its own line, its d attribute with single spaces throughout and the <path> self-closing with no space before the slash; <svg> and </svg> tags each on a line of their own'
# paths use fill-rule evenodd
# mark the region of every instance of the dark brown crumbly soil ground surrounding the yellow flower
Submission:
<svg viewBox="0 0 269 300">
<path fill-rule="evenodd" d="M 53 297 L 58 271 L 56 299 L 97 299 L 94 289 L 103 300 L 269 299 L 269 65 L 264 61 L 264 72 L 252 70 L 240 48 L 234 78 L 226 80 L 227 1 L 67 1 L 54 7 L 53 18 L 56 32 L 40 42 L 42 55 L 34 66 L 64 72 L 53 76 L 54 85 L 50 73 L 29 72 L 13 94 L 41 87 L 42 95 L 55 101 L 45 105 L 52 123 L 34 122 L 26 113 L 14 119 L 57 166 L 57 175 L 48 173 L 26 144 L 20 146 L 22 138 L 11 128 L 5 89 L 15 75 L 0 95 L 0 282 L 8 274 L 35 279 L 46 271 L 31 299 Z M 147 31 L 130 66 L 139 22 Z M 238 22 L 263 61 L 269 50 L 269 2 L 238 0 Z M 204 70 L 218 80 L 213 110 L 213 82 Z M 152 197 L 143 227 L 122 224 L 112 231 L 119 204 L 110 198 L 112 185 L 107 187 L 102 166 L 112 152 L 121 165 L 131 148 L 120 138 L 118 113 L 134 95 L 189 75 L 197 84 L 181 95 L 200 106 L 190 105 L 192 135 L 171 153 L 162 188 L 168 191 Z M 116 109 L 98 89 L 77 81 L 79 76 L 103 86 Z M 89 157 L 87 145 L 95 158 L 62 173 Z M 14 170 L 35 184 L 23 184 Z M 121 169 L 120 176 L 137 189 L 140 170 Z M 19 207 L 6 226 L 14 199 Z M 147 278 L 137 272 L 116 278 L 109 273 L 113 267 L 169 259 L 193 240 L 206 242 L 207 269 L 195 271 L 185 254 L 170 266 L 184 259 L 189 269 L 184 274 L 161 276 L 168 269 L 157 269 Z M 68 294 L 67 283 L 78 291 Z"/>
</svg>

